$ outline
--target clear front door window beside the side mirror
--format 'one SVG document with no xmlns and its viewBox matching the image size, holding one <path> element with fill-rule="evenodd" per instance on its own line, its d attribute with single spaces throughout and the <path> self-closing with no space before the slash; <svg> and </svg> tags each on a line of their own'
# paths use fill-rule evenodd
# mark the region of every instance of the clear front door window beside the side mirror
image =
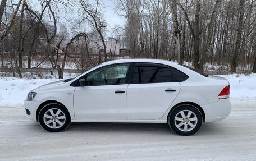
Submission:
<svg viewBox="0 0 256 161">
<path fill-rule="evenodd" d="M 86 85 L 124 84 L 129 63 L 109 65 L 90 72 L 86 77 Z"/>
</svg>

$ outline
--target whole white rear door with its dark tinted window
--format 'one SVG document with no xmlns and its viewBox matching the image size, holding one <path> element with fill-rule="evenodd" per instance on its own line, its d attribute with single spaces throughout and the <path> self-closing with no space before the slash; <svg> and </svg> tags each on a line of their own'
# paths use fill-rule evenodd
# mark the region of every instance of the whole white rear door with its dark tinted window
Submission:
<svg viewBox="0 0 256 161">
<path fill-rule="evenodd" d="M 161 118 L 180 89 L 169 66 L 135 63 L 132 83 L 127 88 L 126 118 Z"/>
</svg>

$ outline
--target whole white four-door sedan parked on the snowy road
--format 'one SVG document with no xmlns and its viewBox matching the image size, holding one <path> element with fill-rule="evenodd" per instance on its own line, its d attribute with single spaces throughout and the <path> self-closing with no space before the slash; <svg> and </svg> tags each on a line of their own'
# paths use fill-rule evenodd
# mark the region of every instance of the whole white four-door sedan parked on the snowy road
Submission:
<svg viewBox="0 0 256 161">
<path fill-rule="evenodd" d="M 122 59 L 31 90 L 24 106 L 51 132 L 71 122 L 132 122 L 168 123 L 176 134 L 193 135 L 230 114 L 229 94 L 222 77 L 171 61 Z"/>
</svg>

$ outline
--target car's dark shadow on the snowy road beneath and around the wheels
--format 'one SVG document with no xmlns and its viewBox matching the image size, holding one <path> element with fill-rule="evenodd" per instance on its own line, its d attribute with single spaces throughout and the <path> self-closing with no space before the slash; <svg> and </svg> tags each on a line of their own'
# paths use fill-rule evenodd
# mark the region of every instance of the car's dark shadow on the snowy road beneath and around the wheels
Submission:
<svg viewBox="0 0 256 161">
<path fill-rule="evenodd" d="M 34 123 L 33 123 L 34 124 Z M 35 131 L 47 132 L 39 125 L 28 126 L 33 127 Z M 61 134 L 156 134 L 156 135 L 170 135 L 177 136 L 171 131 L 167 123 L 71 123 L 67 130 L 61 132 Z M 57 134 L 60 134 L 58 132 Z M 200 130 L 193 136 L 211 136 L 211 135 L 232 135 L 232 128 L 228 128 L 227 122 L 211 122 L 203 123 Z"/>
</svg>

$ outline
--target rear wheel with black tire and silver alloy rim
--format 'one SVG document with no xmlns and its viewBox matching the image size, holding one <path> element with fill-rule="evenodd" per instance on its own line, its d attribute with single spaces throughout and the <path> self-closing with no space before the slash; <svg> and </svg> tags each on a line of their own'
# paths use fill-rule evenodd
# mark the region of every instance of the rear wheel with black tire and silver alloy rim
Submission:
<svg viewBox="0 0 256 161">
<path fill-rule="evenodd" d="M 190 117 L 188 118 L 187 116 L 188 116 L 189 111 L 191 111 L 192 113 L 191 113 Z M 184 117 L 181 116 L 181 112 L 183 112 L 182 114 L 185 114 L 184 115 L 185 119 L 184 119 Z M 176 116 L 178 118 L 181 118 L 182 121 L 177 121 L 177 118 L 175 119 Z M 189 120 L 190 118 L 195 119 L 195 116 L 197 118 L 196 121 Z M 199 129 L 201 128 L 202 123 L 203 123 L 203 116 L 202 116 L 201 112 L 199 111 L 199 109 L 196 108 L 195 106 L 190 105 L 190 104 L 182 104 L 182 105 L 179 105 L 172 109 L 172 111 L 168 115 L 167 122 L 168 122 L 171 130 L 173 132 L 175 132 L 176 134 L 189 136 L 189 135 L 193 135 L 199 131 Z M 178 127 L 179 125 L 181 125 L 181 126 Z M 194 127 L 190 126 L 190 125 L 193 125 Z M 185 126 L 187 128 L 185 128 Z M 183 128 L 183 130 L 182 130 L 182 128 Z"/>
</svg>

